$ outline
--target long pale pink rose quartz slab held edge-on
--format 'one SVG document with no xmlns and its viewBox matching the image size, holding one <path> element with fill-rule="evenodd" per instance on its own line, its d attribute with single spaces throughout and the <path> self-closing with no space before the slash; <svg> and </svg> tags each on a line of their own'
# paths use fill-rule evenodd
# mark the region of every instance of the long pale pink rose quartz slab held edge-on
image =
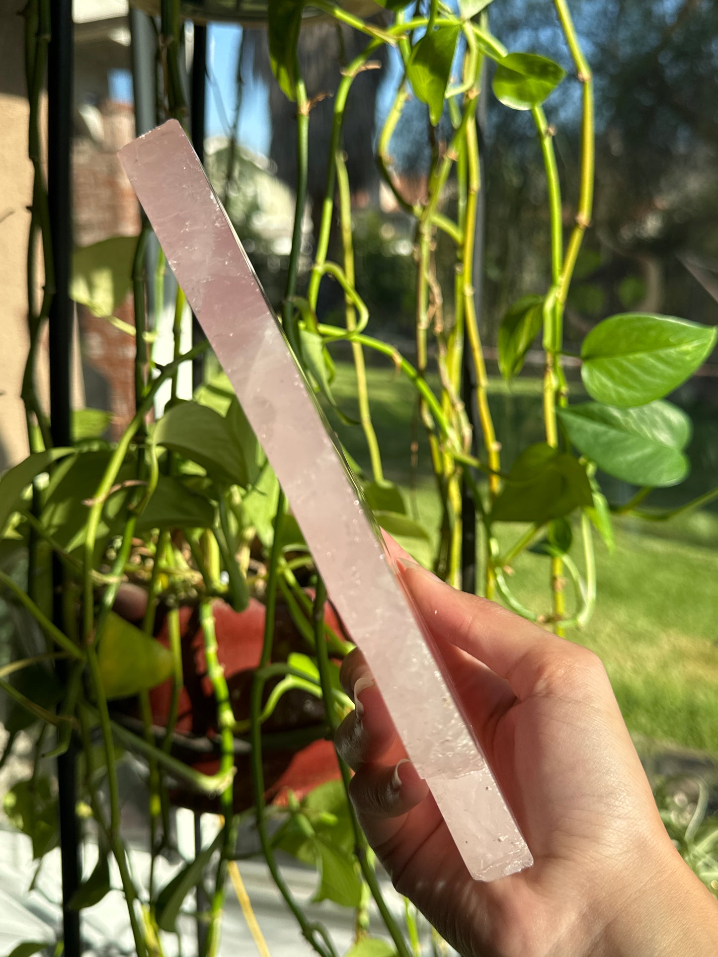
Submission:
<svg viewBox="0 0 718 957">
<path fill-rule="evenodd" d="M 165 123 L 120 158 L 466 867 L 481 880 L 522 870 L 527 845 L 181 126 Z"/>
</svg>

